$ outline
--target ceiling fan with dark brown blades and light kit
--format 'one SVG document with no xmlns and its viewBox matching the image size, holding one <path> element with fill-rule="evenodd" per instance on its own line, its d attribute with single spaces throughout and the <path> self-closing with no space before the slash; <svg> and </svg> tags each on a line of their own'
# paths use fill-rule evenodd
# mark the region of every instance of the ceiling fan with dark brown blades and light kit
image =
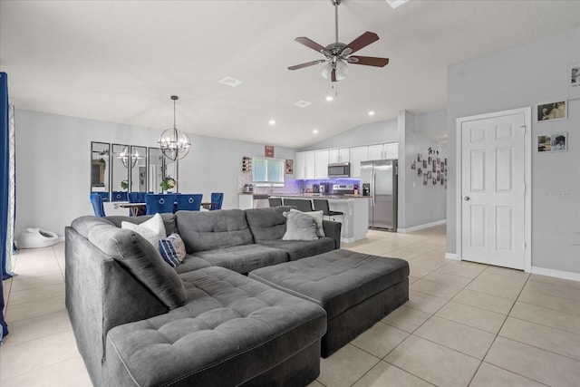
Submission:
<svg viewBox="0 0 580 387">
<path fill-rule="evenodd" d="M 375 67 L 386 66 L 387 63 L 389 63 L 388 58 L 352 55 L 352 53 L 356 53 L 363 47 L 378 41 L 379 35 L 367 31 L 366 33 L 354 39 L 350 44 L 343 44 L 338 42 L 338 5 L 341 4 L 342 0 L 330 1 L 334 5 L 334 32 L 336 42 L 333 44 L 328 44 L 326 47 L 324 47 L 304 36 L 295 38 L 295 41 L 299 44 L 304 44 L 306 47 L 310 47 L 313 50 L 324 54 L 325 59 L 296 64 L 295 66 L 288 67 L 288 70 L 298 70 L 304 67 L 314 66 L 315 64 L 326 63 L 321 69 L 320 74 L 325 79 L 330 78 L 332 82 L 337 82 L 343 80 L 346 77 L 346 73 L 348 73 L 348 65 L 346 63 L 363 64 L 365 66 Z"/>
</svg>

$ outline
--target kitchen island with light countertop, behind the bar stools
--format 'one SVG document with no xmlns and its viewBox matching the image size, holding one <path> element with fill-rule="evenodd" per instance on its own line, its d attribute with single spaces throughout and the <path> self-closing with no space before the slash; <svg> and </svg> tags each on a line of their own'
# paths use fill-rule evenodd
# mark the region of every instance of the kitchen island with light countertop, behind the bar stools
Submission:
<svg viewBox="0 0 580 387">
<path fill-rule="evenodd" d="M 369 229 L 369 199 L 368 196 L 360 195 L 321 195 L 321 194 L 272 194 L 270 198 L 301 198 L 312 200 L 313 198 L 325 198 L 331 211 L 340 211 L 342 216 L 334 217 L 342 222 L 341 241 L 353 243 L 364 239 Z"/>
</svg>

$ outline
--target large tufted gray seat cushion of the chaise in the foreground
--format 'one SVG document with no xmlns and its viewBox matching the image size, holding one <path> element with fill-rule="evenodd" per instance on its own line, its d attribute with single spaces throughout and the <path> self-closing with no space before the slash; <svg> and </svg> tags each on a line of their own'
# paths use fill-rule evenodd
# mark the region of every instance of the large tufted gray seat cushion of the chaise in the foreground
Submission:
<svg viewBox="0 0 580 387">
<path fill-rule="evenodd" d="M 179 276 L 186 305 L 109 332 L 109 378 L 118 385 L 239 385 L 326 330 L 319 305 L 247 276 L 222 267 Z"/>
</svg>

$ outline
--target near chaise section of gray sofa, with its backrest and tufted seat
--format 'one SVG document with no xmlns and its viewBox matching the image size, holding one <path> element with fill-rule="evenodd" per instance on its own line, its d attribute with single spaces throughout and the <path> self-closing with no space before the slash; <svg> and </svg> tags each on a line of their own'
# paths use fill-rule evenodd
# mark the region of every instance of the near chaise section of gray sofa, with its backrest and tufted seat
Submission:
<svg viewBox="0 0 580 387">
<path fill-rule="evenodd" d="M 66 227 L 66 307 L 96 386 L 306 385 L 324 309 L 223 267 L 178 275 L 105 218 Z"/>
</svg>

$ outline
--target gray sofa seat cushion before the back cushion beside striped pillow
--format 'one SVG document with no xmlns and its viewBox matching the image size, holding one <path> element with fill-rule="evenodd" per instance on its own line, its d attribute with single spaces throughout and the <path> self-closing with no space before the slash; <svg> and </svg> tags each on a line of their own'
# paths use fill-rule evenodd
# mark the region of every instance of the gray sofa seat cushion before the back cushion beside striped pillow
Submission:
<svg viewBox="0 0 580 387">
<path fill-rule="evenodd" d="M 288 261 L 288 255 L 284 250 L 255 244 L 198 251 L 194 255 L 212 266 L 226 267 L 242 274 L 247 274 L 258 267 Z"/>
</svg>

